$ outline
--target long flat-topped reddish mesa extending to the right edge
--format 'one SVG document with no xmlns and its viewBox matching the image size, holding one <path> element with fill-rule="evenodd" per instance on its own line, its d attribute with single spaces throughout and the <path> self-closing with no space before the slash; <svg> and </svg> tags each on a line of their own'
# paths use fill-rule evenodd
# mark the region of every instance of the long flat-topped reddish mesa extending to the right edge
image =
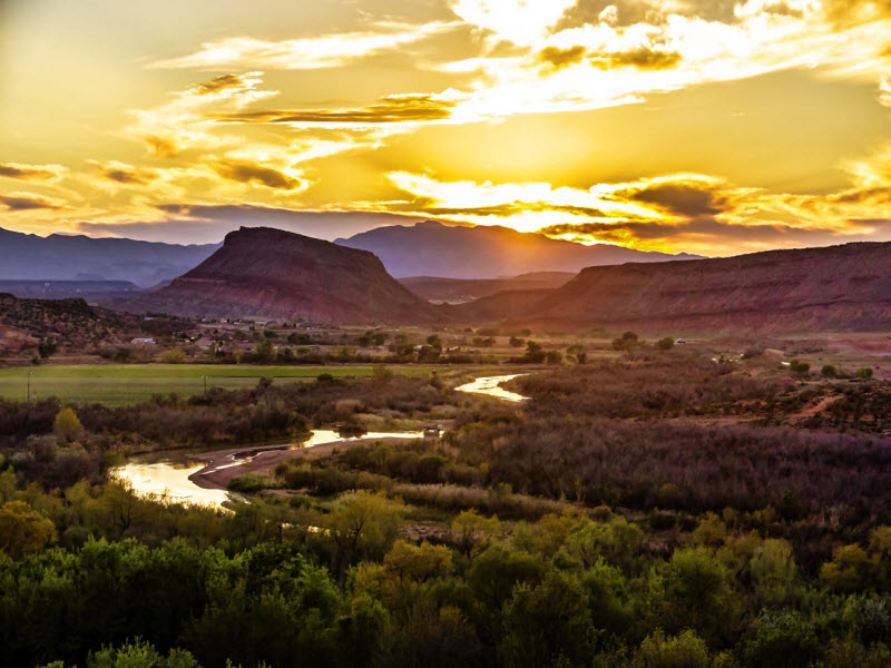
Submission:
<svg viewBox="0 0 891 668">
<path fill-rule="evenodd" d="M 515 302 L 502 299 L 501 322 L 775 333 L 891 328 L 891 243 L 590 267 L 544 299 Z M 477 315 L 472 304 L 456 308 L 459 316 Z"/>
</svg>

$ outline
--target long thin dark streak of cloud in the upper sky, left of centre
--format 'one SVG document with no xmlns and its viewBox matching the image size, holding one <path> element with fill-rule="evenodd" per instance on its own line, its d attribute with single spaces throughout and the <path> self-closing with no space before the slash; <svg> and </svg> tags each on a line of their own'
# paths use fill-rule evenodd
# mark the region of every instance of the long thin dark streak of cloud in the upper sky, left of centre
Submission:
<svg viewBox="0 0 891 668">
<path fill-rule="evenodd" d="M 449 118 L 454 102 L 431 95 L 392 96 L 376 105 L 356 109 L 272 109 L 218 117 L 226 122 L 356 122 L 385 124 Z"/>
</svg>

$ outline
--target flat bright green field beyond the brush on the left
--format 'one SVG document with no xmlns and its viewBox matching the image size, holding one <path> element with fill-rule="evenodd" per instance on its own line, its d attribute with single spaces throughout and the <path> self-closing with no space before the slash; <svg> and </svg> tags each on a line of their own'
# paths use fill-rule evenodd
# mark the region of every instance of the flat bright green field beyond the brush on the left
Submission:
<svg viewBox="0 0 891 668">
<path fill-rule="evenodd" d="M 435 369 L 429 365 L 388 366 L 403 375 L 428 375 Z M 342 366 L 258 366 L 252 364 L 86 364 L 78 366 L 17 366 L 0 369 L 0 397 L 25 401 L 28 396 L 28 375 L 31 375 L 31 397 L 58 396 L 70 403 L 98 402 L 125 405 L 150 399 L 153 394 L 175 392 L 190 396 L 207 387 L 236 390 L 253 387 L 262 376 L 275 383 L 307 382 L 319 374 L 335 377 L 368 377 L 371 365 Z"/>
</svg>

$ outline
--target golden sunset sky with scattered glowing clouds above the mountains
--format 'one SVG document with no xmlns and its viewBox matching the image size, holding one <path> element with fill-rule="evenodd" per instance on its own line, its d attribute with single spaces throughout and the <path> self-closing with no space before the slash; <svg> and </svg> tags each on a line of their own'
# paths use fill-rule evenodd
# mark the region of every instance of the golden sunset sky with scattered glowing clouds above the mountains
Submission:
<svg viewBox="0 0 891 668">
<path fill-rule="evenodd" d="M 0 227 L 891 240 L 891 0 L 0 0 Z"/>
</svg>

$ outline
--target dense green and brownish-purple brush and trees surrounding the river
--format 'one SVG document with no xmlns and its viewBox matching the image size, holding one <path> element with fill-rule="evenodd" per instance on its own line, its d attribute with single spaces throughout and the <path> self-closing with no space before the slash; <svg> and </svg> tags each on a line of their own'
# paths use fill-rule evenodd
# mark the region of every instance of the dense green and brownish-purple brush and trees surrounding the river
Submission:
<svg viewBox="0 0 891 668">
<path fill-rule="evenodd" d="M 385 373 L 2 404 L 0 664 L 891 664 L 891 442 L 880 409 L 850 418 L 888 384 L 667 346 L 513 383 L 519 406 Z M 231 512 L 106 478 L 134 450 L 429 421 L 442 440 L 236 478 Z"/>
</svg>

